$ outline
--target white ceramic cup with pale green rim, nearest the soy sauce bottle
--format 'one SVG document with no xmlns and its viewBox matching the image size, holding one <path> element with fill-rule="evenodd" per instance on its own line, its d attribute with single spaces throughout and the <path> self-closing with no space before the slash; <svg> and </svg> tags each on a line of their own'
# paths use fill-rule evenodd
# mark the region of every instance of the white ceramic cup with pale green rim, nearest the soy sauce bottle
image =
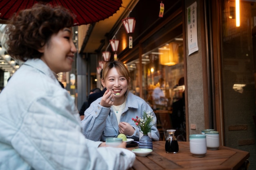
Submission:
<svg viewBox="0 0 256 170">
<path fill-rule="evenodd" d="M 202 134 L 189 135 L 189 149 L 194 157 L 204 157 L 207 153 L 206 136 Z"/>
</svg>

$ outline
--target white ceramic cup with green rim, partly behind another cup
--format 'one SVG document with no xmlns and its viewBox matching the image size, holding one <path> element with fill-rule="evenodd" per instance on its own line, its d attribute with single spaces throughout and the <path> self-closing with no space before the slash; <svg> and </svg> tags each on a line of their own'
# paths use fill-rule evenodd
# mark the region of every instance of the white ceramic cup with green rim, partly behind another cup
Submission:
<svg viewBox="0 0 256 170">
<path fill-rule="evenodd" d="M 209 150 L 218 150 L 220 147 L 220 137 L 218 131 L 205 131 L 206 146 Z"/>
</svg>

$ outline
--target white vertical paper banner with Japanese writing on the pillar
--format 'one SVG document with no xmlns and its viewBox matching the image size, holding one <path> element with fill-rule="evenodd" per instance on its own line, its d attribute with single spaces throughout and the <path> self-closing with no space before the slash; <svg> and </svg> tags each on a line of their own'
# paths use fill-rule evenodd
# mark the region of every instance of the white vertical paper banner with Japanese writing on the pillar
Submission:
<svg viewBox="0 0 256 170">
<path fill-rule="evenodd" d="M 197 5 L 196 2 L 191 4 L 188 8 L 188 46 L 189 55 L 198 51 L 198 27 L 197 27 Z"/>
</svg>

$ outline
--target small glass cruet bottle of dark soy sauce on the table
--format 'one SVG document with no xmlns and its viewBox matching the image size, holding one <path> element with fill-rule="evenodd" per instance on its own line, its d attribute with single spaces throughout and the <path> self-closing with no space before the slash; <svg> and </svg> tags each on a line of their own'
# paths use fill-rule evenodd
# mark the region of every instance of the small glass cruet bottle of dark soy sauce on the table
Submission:
<svg viewBox="0 0 256 170">
<path fill-rule="evenodd" d="M 179 145 L 178 145 L 177 139 L 174 135 L 176 130 L 168 129 L 166 131 L 168 133 L 168 136 L 166 137 L 166 141 L 165 141 L 165 151 L 167 153 L 178 153 Z"/>
</svg>

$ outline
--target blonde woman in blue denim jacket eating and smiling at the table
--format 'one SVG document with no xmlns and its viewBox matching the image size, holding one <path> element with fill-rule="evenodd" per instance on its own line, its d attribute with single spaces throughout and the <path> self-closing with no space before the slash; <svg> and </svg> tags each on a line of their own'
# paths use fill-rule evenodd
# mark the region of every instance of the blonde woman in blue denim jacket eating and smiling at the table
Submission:
<svg viewBox="0 0 256 170">
<path fill-rule="evenodd" d="M 139 128 L 132 118 L 142 118 L 143 111 L 150 111 L 155 120 L 156 117 L 142 98 L 129 92 L 130 75 L 124 63 L 106 63 L 101 83 L 107 90 L 85 110 L 83 134 L 94 141 L 105 141 L 106 137 L 117 137 L 120 133 L 139 140 Z M 156 122 L 151 128 L 151 136 L 152 140 L 159 140 Z"/>
</svg>

